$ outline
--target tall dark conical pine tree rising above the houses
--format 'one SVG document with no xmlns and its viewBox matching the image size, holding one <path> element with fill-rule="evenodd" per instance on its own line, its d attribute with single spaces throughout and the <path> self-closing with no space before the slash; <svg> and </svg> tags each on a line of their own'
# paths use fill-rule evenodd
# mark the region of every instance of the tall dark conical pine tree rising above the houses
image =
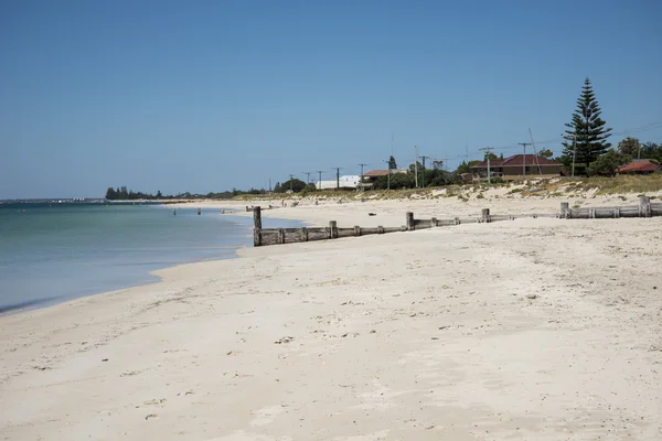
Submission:
<svg viewBox="0 0 662 441">
<path fill-rule="evenodd" d="M 585 164 L 586 168 L 611 147 L 611 143 L 607 142 L 611 129 L 605 128 L 601 112 L 590 79 L 586 78 L 581 95 L 577 99 L 577 110 L 573 114 L 573 122 L 566 123 L 567 141 L 563 143 L 563 160 L 566 164 L 573 162 L 574 137 L 577 139 L 575 163 Z"/>
</svg>

